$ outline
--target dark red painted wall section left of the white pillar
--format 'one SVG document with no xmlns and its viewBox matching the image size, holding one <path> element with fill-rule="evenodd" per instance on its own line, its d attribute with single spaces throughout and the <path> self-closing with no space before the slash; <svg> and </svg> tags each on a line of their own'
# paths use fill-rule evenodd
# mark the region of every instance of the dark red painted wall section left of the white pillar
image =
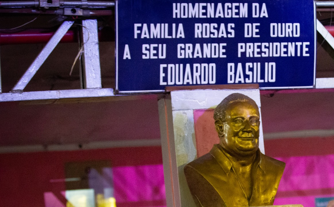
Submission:
<svg viewBox="0 0 334 207">
<path fill-rule="evenodd" d="M 65 183 L 50 180 L 65 178 L 66 162 L 89 160 L 110 160 L 112 167 L 161 165 L 162 154 L 161 147 L 1 154 L 1 206 L 44 207 L 44 192 L 65 203 Z"/>
</svg>

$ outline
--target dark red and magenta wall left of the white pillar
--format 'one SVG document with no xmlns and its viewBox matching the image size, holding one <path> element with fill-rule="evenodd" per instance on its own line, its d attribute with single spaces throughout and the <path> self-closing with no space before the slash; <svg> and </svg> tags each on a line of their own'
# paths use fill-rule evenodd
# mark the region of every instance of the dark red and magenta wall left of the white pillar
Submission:
<svg viewBox="0 0 334 207">
<path fill-rule="evenodd" d="M 66 162 L 88 160 L 111 161 L 117 206 L 165 205 L 161 147 L 133 147 L 1 154 L 1 206 L 44 207 L 45 192 L 66 203 L 64 182 L 54 181 L 65 178 Z"/>
</svg>

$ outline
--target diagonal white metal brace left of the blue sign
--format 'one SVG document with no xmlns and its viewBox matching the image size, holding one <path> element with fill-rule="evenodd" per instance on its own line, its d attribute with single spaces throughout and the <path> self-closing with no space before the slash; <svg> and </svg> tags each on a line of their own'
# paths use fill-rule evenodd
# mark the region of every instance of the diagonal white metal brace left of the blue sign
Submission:
<svg viewBox="0 0 334 207">
<path fill-rule="evenodd" d="M 45 45 L 42 51 L 38 54 L 38 56 L 33 61 L 33 63 L 30 65 L 30 67 L 27 69 L 27 71 L 23 74 L 21 79 L 13 87 L 13 89 L 11 90 L 12 93 L 23 91 L 25 86 L 27 86 L 28 82 L 35 75 L 37 70 L 44 63 L 46 58 L 50 55 L 50 53 L 53 51 L 53 49 L 56 47 L 56 45 L 59 43 L 61 38 L 66 34 L 66 32 L 72 26 L 73 23 L 74 21 L 64 21 L 60 25 L 60 27 L 57 29 L 57 31 L 53 34 L 53 36 L 49 40 L 49 42 Z"/>
</svg>

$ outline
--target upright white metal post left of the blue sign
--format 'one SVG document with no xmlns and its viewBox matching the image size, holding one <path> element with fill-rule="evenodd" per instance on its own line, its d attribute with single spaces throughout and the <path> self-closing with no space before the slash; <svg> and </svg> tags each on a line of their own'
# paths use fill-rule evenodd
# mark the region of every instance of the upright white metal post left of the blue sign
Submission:
<svg viewBox="0 0 334 207">
<path fill-rule="evenodd" d="M 83 88 L 102 88 L 98 21 L 82 20 Z"/>
</svg>

